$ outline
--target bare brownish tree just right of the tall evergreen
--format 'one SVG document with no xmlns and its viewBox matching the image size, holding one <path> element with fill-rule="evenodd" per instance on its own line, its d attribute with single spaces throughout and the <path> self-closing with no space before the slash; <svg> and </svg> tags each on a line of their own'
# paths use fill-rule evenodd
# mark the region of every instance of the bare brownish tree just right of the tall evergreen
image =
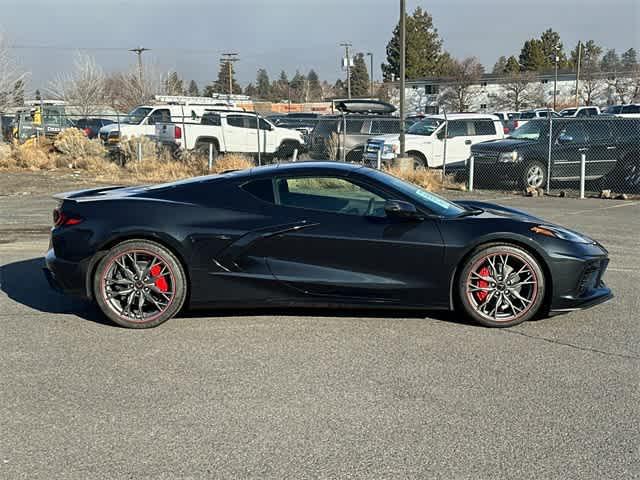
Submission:
<svg viewBox="0 0 640 480">
<path fill-rule="evenodd" d="M 449 86 L 442 93 L 441 100 L 450 110 L 464 112 L 480 94 L 478 82 L 484 67 L 475 57 L 455 60 L 451 65 Z"/>
</svg>

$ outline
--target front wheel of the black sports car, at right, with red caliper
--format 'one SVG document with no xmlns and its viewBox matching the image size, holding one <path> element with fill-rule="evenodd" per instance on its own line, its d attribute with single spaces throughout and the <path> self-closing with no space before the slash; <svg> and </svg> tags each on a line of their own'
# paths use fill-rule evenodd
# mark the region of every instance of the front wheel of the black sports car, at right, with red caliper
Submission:
<svg viewBox="0 0 640 480">
<path fill-rule="evenodd" d="M 501 271 L 504 259 L 507 267 Z M 546 281 L 529 252 L 494 243 L 480 247 L 465 261 L 456 285 L 467 316 L 486 327 L 512 327 L 538 314 Z"/>
</svg>

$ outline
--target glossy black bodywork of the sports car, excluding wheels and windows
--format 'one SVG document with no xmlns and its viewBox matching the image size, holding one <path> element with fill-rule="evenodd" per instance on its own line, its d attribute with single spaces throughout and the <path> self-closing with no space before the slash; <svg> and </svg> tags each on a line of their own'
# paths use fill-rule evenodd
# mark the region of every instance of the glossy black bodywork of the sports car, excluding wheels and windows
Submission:
<svg viewBox="0 0 640 480">
<path fill-rule="evenodd" d="M 371 172 L 371 173 L 370 173 Z M 52 230 L 46 256 L 63 290 L 92 297 L 92 275 L 110 247 L 132 238 L 157 241 L 182 262 L 189 306 L 268 305 L 453 307 L 456 273 L 479 245 L 508 241 L 533 253 L 548 274 L 551 310 L 611 297 L 604 285 L 577 291 L 590 262 L 607 253 L 597 243 L 571 243 L 531 232 L 540 219 L 481 202 L 473 215 L 441 218 L 416 205 L 422 220 L 366 217 L 274 205 L 241 187 L 278 175 L 331 175 L 411 201 L 373 171 L 336 163 L 297 163 L 202 177 L 165 186 L 72 192 L 61 209 L 78 225 Z"/>
</svg>

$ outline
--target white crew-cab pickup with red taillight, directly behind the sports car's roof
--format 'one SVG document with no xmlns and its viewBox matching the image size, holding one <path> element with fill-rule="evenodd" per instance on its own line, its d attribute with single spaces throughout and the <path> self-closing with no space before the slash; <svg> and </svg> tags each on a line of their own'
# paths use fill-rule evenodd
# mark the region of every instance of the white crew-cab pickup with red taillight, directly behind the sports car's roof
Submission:
<svg viewBox="0 0 640 480">
<path fill-rule="evenodd" d="M 199 123 L 156 123 L 155 136 L 173 150 L 211 151 L 214 158 L 219 153 L 260 151 L 284 159 L 304 147 L 302 133 L 296 130 L 276 127 L 255 113 L 214 109 L 205 111 Z"/>
</svg>

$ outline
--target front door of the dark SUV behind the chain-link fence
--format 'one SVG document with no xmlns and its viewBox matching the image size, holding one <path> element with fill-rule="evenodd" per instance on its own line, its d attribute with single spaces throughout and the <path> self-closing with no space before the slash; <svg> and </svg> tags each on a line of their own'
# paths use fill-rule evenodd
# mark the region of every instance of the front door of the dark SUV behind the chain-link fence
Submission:
<svg viewBox="0 0 640 480">
<path fill-rule="evenodd" d="M 582 120 L 567 120 L 560 126 L 551 149 L 551 176 L 558 180 L 580 178 L 580 156 L 589 153 L 589 140 Z"/>
</svg>

